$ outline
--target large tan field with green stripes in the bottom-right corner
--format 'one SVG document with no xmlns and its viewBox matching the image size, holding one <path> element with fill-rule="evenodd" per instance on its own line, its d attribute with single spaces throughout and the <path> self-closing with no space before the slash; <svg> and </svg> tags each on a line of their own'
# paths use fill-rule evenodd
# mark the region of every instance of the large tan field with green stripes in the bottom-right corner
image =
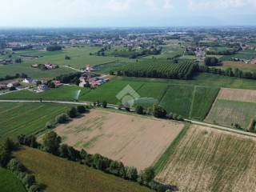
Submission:
<svg viewBox="0 0 256 192">
<path fill-rule="evenodd" d="M 157 179 L 186 192 L 253 192 L 256 141 L 239 134 L 190 126 Z"/>
</svg>

